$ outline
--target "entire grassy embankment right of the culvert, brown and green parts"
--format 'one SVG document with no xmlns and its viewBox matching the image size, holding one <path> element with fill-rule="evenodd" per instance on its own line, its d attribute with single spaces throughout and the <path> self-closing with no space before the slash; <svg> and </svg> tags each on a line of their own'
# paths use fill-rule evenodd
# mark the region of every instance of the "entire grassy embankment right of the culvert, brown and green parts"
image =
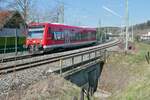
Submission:
<svg viewBox="0 0 150 100">
<path fill-rule="evenodd" d="M 137 43 L 130 54 L 112 54 L 105 65 L 100 88 L 111 92 L 108 100 L 150 100 L 150 45 Z"/>
</svg>

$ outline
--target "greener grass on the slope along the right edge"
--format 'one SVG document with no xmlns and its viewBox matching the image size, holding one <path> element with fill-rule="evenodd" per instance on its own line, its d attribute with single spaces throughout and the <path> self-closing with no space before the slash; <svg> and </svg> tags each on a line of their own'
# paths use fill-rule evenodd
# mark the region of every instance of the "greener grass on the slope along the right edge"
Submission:
<svg viewBox="0 0 150 100">
<path fill-rule="evenodd" d="M 136 53 L 121 57 L 121 63 L 126 63 L 130 77 L 133 78 L 119 93 L 113 93 L 110 100 L 150 100 L 150 64 L 145 59 L 150 45 L 138 43 L 136 48 Z"/>
</svg>

